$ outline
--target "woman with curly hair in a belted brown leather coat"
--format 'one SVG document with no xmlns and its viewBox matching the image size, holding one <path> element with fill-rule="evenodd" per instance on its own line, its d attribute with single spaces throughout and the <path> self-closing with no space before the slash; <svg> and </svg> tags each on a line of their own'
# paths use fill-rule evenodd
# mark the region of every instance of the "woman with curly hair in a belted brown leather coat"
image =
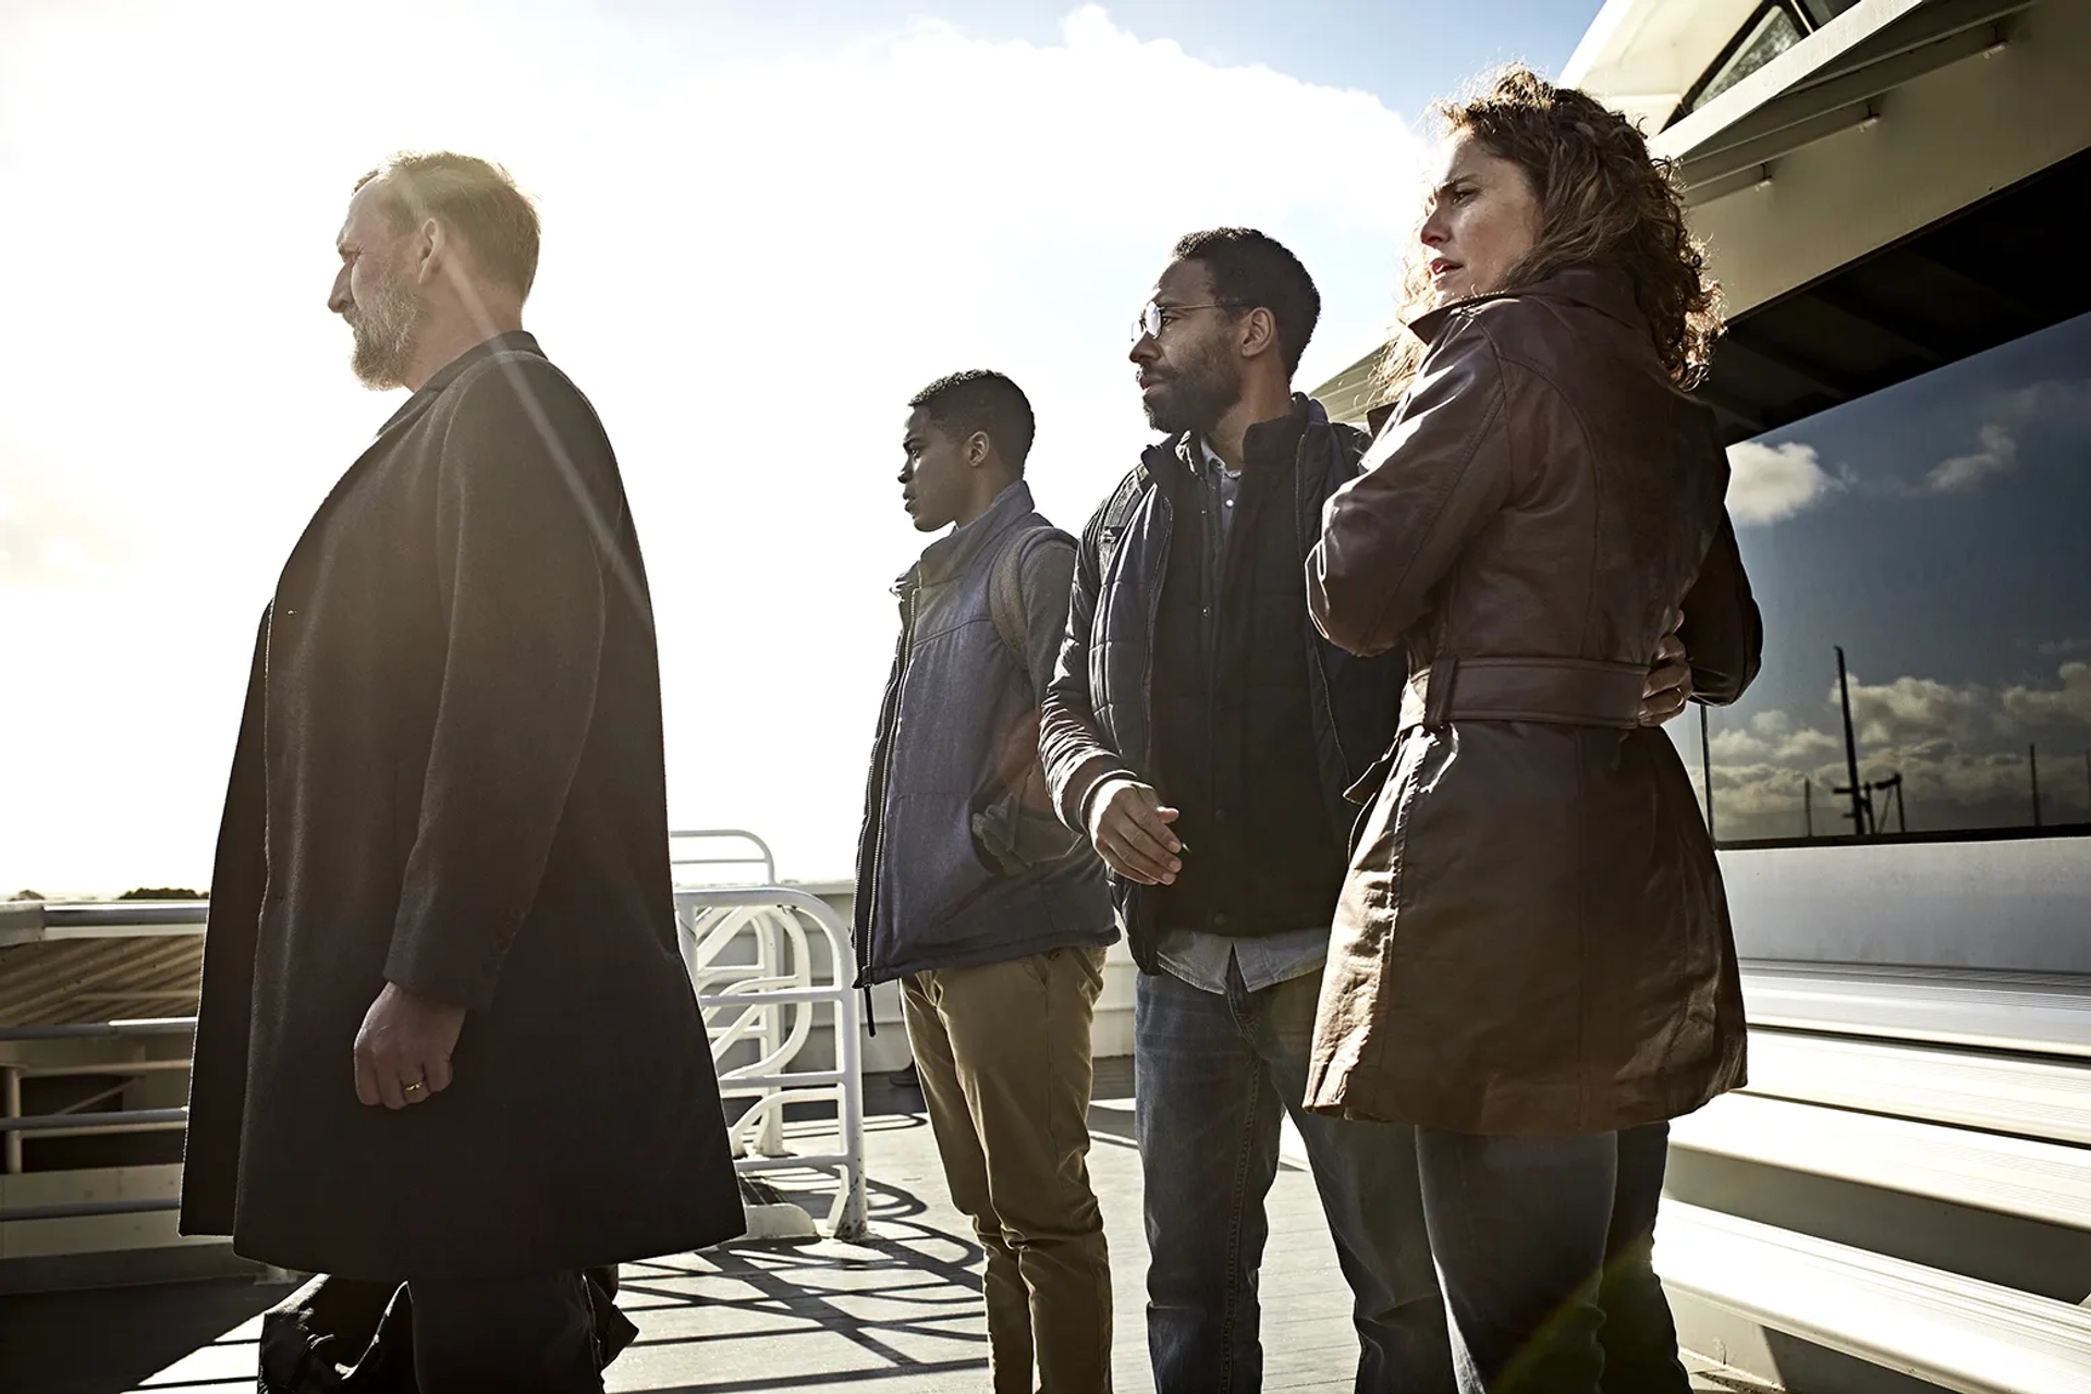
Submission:
<svg viewBox="0 0 2091 1394">
<path fill-rule="evenodd" d="M 1464 1388 L 1681 1392 L 1669 1118 L 1744 1083 L 1744 1020 L 1706 823 L 1637 708 L 1679 610 L 1700 700 L 1759 665 L 1685 395 L 1715 288 L 1616 113 L 1526 69 L 1437 111 L 1401 401 L 1307 564 L 1322 633 L 1411 675 L 1307 1106 L 1418 1124 Z"/>
</svg>

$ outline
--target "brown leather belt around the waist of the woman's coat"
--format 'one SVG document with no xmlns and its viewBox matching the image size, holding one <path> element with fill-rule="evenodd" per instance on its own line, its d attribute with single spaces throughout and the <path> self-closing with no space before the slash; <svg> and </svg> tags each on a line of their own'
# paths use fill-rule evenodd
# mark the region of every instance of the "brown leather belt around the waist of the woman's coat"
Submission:
<svg viewBox="0 0 2091 1394">
<path fill-rule="evenodd" d="M 1648 669 L 1593 658 L 1439 658 L 1401 690 L 1401 729 L 1449 721 L 1635 727 Z"/>
</svg>

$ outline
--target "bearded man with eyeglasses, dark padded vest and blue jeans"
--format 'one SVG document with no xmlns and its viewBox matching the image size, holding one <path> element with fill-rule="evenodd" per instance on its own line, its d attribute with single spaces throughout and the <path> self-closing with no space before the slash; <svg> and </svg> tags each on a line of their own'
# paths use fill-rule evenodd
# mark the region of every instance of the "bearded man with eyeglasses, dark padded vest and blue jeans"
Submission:
<svg viewBox="0 0 2091 1394">
<path fill-rule="evenodd" d="M 1041 746 L 1112 872 L 1140 963 L 1148 1354 L 1161 1394 L 1257 1390 L 1257 1271 L 1292 1116 L 1355 1296 L 1359 1390 L 1453 1388 L 1407 1126 L 1301 1110 L 1349 790 L 1395 734 L 1401 658 L 1309 617 L 1322 504 L 1365 437 L 1292 393 L 1322 297 L 1261 232 L 1194 232 L 1133 328 L 1169 439 L 1092 518 Z"/>
</svg>

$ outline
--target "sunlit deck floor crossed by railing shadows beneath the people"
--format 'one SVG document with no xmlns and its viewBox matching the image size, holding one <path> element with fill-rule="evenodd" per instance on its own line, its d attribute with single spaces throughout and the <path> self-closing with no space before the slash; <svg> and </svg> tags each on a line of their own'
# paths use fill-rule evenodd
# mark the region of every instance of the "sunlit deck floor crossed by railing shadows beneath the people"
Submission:
<svg viewBox="0 0 2091 1394">
<path fill-rule="evenodd" d="M 1110 1235 L 1117 1384 L 1150 1390 L 1140 1158 L 1129 1062 L 1098 1062 L 1089 1172 Z M 640 1340 L 608 1390 L 759 1394 L 864 1386 L 893 1394 L 983 1388 L 981 1248 L 943 1191 L 920 1095 L 866 1081 L 872 1239 L 726 1244 L 625 1264 L 619 1304 Z M 790 1193 L 790 1172 L 769 1177 Z M 824 1212 L 820 1200 L 811 1200 Z M 1269 1390 L 1349 1390 L 1351 1294 L 1305 1168 L 1271 1189 L 1263 1271 Z M 0 1298 L 0 1390 L 232 1394 L 253 1390 L 259 1312 L 286 1287 L 253 1281 Z"/>
</svg>

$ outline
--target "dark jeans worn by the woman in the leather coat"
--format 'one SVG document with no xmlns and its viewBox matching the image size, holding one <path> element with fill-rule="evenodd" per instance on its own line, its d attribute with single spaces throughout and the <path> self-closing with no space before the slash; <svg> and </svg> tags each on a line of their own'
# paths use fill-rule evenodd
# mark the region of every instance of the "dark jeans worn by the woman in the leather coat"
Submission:
<svg viewBox="0 0 2091 1394">
<path fill-rule="evenodd" d="M 1685 1394 L 1652 1262 L 1669 1135 L 1418 1129 L 1464 1394 Z"/>
</svg>

